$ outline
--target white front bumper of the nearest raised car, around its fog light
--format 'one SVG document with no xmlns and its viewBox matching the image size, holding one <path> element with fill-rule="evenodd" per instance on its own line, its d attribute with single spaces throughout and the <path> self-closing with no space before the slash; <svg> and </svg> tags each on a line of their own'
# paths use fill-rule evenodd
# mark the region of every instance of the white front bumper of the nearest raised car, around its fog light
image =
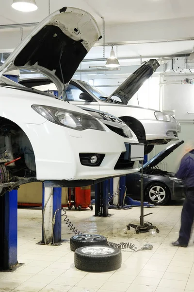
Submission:
<svg viewBox="0 0 194 292">
<path fill-rule="evenodd" d="M 78 131 L 49 121 L 43 124 L 20 124 L 34 151 L 37 180 L 97 180 L 137 172 L 138 159 L 132 167 L 114 169 L 125 143 L 138 143 L 137 138 L 125 138 L 111 131 L 87 129 Z M 80 153 L 105 154 L 100 166 L 84 166 Z"/>
</svg>

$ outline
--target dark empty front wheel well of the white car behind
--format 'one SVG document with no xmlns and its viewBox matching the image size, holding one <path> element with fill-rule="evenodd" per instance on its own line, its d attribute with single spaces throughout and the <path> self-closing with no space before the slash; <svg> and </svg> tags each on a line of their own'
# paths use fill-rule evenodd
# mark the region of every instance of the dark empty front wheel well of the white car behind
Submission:
<svg viewBox="0 0 194 292">
<path fill-rule="evenodd" d="M 125 122 L 129 128 L 135 133 L 139 142 L 146 142 L 146 132 L 145 128 L 140 121 L 133 117 L 123 116 L 119 117 L 123 122 Z"/>
</svg>

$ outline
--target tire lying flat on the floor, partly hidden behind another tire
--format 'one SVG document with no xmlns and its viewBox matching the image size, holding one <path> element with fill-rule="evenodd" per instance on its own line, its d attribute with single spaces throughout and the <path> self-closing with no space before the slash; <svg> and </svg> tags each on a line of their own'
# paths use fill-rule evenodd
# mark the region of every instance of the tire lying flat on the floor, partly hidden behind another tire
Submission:
<svg viewBox="0 0 194 292">
<path fill-rule="evenodd" d="M 107 245 L 107 239 L 98 234 L 81 234 L 70 238 L 70 249 L 73 252 L 79 247 L 90 245 Z"/>
</svg>

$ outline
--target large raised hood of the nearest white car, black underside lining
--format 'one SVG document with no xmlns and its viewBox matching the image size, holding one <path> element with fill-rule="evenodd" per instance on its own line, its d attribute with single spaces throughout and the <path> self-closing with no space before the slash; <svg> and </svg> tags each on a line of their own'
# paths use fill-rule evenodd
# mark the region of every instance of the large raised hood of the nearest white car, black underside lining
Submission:
<svg viewBox="0 0 194 292">
<path fill-rule="evenodd" d="M 95 19 L 81 9 L 64 7 L 42 20 L 0 67 L 0 75 L 16 69 L 49 77 L 64 95 L 81 61 L 101 38 Z"/>
</svg>

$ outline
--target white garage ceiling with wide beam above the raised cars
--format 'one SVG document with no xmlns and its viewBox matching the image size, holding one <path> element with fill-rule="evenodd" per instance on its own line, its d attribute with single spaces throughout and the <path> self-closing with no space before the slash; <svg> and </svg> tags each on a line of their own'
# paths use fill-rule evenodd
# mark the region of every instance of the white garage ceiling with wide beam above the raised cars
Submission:
<svg viewBox="0 0 194 292">
<path fill-rule="evenodd" d="M 39 22 L 49 14 L 49 0 L 36 0 L 38 10 L 31 13 L 14 10 L 12 0 L 1 2 L 0 25 Z M 105 58 L 110 55 L 108 44 L 118 44 L 118 58 L 134 58 L 119 60 L 121 71 L 124 66 L 140 64 L 140 56 L 188 54 L 194 46 L 194 0 L 50 0 L 50 13 L 63 6 L 90 12 L 101 31 L 104 17 Z M 30 30 L 24 28 L 23 37 Z M 0 39 L 0 53 L 13 51 L 21 41 L 19 28 L 0 29 Z M 97 45 L 86 59 L 103 57 L 102 42 Z M 104 64 L 83 62 L 81 68 Z"/>
</svg>

